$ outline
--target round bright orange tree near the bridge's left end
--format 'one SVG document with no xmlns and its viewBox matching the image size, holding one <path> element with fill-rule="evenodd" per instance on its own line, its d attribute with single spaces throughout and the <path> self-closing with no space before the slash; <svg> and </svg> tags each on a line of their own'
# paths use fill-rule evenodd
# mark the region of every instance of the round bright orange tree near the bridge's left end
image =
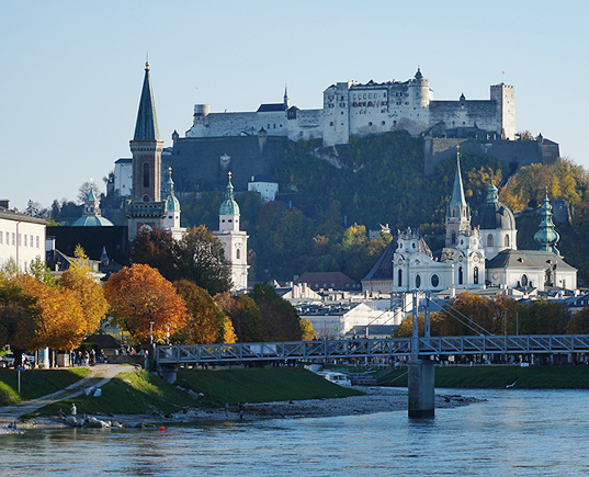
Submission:
<svg viewBox="0 0 589 477">
<path fill-rule="evenodd" d="M 166 342 L 168 327 L 173 334 L 186 319 L 186 305 L 172 284 L 149 265 L 125 266 L 111 275 L 104 295 L 117 325 L 136 343 Z"/>
</svg>

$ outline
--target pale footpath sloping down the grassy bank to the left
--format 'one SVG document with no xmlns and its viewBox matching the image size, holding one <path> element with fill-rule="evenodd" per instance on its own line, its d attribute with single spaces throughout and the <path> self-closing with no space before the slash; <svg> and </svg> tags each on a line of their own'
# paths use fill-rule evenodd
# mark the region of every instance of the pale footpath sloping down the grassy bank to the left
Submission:
<svg viewBox="0 0 589 477">
<path fill-rule="evenodd" d="M 90 373 L 68 387 L 37 399 L 0 407 L 0 425 L 16 421 L 21 416 L 34 412 L 44 406 L 63 399 L 70 399 L 86 393 L 89 387 L 102 387 L 120 373 L 128 373 L 133 367 L 126 364 L 97 364 Z"/>
</svg>

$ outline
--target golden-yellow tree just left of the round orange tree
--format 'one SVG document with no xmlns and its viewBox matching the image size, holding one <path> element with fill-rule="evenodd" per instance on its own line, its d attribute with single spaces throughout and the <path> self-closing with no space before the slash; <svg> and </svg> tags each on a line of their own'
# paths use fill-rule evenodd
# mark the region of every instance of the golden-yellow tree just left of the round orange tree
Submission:
<svg viewBox="0 0 589 477">
<path fill-rule="evenodd" d="M 76 294 L 86 318 L 84 333 L 90 336 L 99 329 L 106 316 L 109 303 L 104 298 L 98 279 L 93 275 L 90 260 L 79 243 L 73 251 L 73 257 L 75 259 L 69 269 L 64 272 L 59 283 Z"/>
</svg>

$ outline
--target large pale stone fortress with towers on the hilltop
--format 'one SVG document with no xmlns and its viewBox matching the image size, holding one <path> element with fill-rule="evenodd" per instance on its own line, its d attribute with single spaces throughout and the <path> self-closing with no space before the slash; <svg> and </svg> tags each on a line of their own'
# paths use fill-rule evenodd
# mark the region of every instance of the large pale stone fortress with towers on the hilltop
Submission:
<svg viewBox="0 0 589 477">
<path fill-rule="evenodd" d="M 352 136 L 393 130 L 411 135 L 435 129 L 440 137 L 460 137 L 474 129 L 485 139 L 516 139 L 516 94 L 512 86 L 490 87 L 490 99 L 434 101 L 430 81 L 418 69 L 408 81 L 338 82 L 324 91 L 324 107 L 291 106 L 287 91 L 282 103 L 261 104 L 256 112 L 211 113 L 208 104 L 194 106 L 186 138 L 279 136 L 291 140 L 321 138 L 324 146 L 348 144 Z"/>
</svg>

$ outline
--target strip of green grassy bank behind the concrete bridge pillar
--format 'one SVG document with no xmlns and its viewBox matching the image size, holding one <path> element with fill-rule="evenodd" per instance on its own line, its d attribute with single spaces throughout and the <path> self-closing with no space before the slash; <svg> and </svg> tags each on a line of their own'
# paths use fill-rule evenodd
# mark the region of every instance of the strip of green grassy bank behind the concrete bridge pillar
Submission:
<svg viewBox="0 0 589 477">
<path fill-rule="evenodd" d="M 407 386 L 407 368 L 378 377 L 380 384 Z M 589 366 L 448 366 L 435 367 L 437 387 L 519 389 L 588 389 Z"/>
</svg>

